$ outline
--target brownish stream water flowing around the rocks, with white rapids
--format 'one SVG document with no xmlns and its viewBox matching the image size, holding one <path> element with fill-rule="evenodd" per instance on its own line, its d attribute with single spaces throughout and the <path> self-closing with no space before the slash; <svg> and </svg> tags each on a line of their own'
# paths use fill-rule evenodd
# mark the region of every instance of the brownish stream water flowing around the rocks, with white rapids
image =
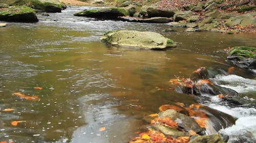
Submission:
<svg viewBox="0 0 256 143">
<path fill-rule="evenodd" d="M 224 48 L 256 46 L 255 34 L 184 33 L 183 28 L 165 33 L 166 24 L 73 16 L 91 8 L 72 6 L 50 16 L 38 14 L 37 23 L 0 28 L 0 141 L 127 142 L 144 129 L 148 123 L 143 118 L 158 112 L 160 105 L 197 103 L 191 95 L 158 91 L 170 87 L 170 78 L 189 77 L 199 67 L 227 72 L 234 65 L 226 59 Z M 106 31 L 117 29 L 161 33 L 179 42 L 178 47 L 114 48 L 99 40 Z M 220 81 L 234 78 L 238 92 L 255 91 L 253 71 L 236 67 L 232 73 L 245 82 L 218 77 Z M 236 89 L 232 83 L 223 86 Z M 13 95 L 17 92 L 40 100 Z M 252 120 L 256 115 L 255 108 L 232 108 L 214 99 L 204 104 L 237 118 Z M 2 111 L 6 108 L 14 110 Z M 215 116 L 222 119 L 220 128 L 233 124 L 227 115 Z M 12 121 L 26 122 L 13 126 Z M 105 130 L 99 131 L 101 127 Z"/>
</svg>

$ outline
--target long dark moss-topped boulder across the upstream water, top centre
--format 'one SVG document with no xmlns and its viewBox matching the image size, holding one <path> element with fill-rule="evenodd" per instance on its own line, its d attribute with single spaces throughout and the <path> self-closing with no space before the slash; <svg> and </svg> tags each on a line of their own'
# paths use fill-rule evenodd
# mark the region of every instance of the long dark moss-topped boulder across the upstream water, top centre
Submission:
<svg viewBox="0 0 256 143">
<path fill-rule="evenodd" d="M 84 10 L 74 14 L 75 16 L 86 16 L 104 19 L 115 19 L 118 16 L 129 16 L 130 13 L 122 8 L 100 8 Z"/>
</svg>

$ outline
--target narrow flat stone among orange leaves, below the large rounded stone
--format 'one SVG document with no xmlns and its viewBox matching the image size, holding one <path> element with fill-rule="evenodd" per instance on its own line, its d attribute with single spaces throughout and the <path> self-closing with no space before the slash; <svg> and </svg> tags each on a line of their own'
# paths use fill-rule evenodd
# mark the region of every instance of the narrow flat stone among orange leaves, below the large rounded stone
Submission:
<svg viewBox="0 0 256 143">
<path fill-rule="evenodd" d="M 165 127 L 165 126 L 162 126 L 162 125 L 153 125 L 151 126 L 151 128 L 153 128 L 154 130 L 158 130 L 158 131 L 161 131 L 165 136 L 172 136 L 174 138 L 177 138 L 177 137 L 180 137 L 180 136 L 188 136 L 188 133 L 187 132 L 182 132 L 182 131 L 179 131 L 177 129 L 173 129 L 173 128 L 170 128 L 170 127 Z"/>
</svg>

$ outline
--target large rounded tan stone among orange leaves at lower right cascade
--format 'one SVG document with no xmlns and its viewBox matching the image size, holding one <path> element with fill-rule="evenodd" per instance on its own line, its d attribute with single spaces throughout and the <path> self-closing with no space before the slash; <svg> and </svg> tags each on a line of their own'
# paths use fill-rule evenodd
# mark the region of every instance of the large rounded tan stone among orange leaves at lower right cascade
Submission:
<svg viewBox="0 0 256 143">
<path fill-rule="evenodd" d="M 160 118 L 170 117 L 170 118 L 172 118 L 173 121 L 179 120 L 179 122 L 177 122 L 178 127 L 182 128 L 183 130 L 185 130 L 187 132 L 189 130 L 193 130 L 196 133 L 200 133 L 205 130 L 204 128 L 201 128 L 197 124 L 197 122 L 194 120 L 194 118 L 183 115 L 182 113 L 179 113 L 173 109 L 168 109 L 168 110 L 161 112 L 159 117 Z"/>
</svg>

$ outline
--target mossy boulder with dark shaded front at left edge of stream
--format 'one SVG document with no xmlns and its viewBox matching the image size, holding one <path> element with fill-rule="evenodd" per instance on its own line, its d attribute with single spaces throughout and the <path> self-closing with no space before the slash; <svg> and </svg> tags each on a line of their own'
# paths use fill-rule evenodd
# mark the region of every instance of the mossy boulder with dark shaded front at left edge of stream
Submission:
<svg viewBox="0 0 256 143">
<path fill-rule="evenodd" d="M 0 20 L 12 22 L 38 21 L 34 9 L 27 6 L 5 7 L 0 9 Z"/>
</svg>

